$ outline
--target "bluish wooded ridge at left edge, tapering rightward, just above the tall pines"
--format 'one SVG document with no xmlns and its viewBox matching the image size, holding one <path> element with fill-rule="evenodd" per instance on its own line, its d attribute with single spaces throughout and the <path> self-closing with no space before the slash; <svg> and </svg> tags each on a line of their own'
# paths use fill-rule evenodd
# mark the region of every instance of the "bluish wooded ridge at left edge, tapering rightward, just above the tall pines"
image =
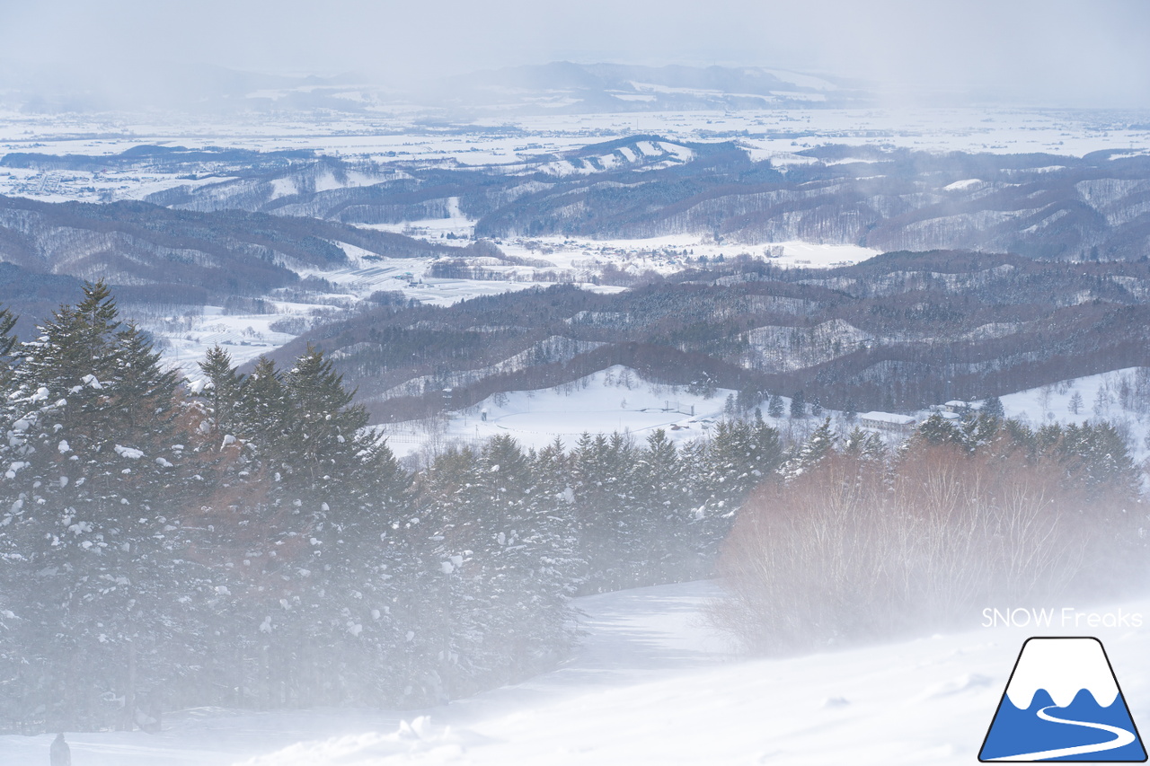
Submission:
<svg viewBox="0 0 1150 766">
<path fill-rule="evenodd" d="M 131 302 L 220 305 L 299 286 L 300 271 L 347 266 L 343 245 L 379 258 L 463 252 L 316 219 L 0 197 L 0 304 L 44 319 L 74 299 L 80 279 L 103 278 Z"/>
</svg>

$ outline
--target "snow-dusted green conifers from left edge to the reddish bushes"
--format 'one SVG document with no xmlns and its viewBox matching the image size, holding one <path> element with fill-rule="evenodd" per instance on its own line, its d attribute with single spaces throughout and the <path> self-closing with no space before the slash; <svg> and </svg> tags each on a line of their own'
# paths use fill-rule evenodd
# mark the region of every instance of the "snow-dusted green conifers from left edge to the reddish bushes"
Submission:
<svg viewBox="0 0 1150 766">
<path fill-rule="evenodd" d="M 409 474 L 314 347 L 202 381 L 89 284 L 17 342 L 0 309 L 0 729 L 198 705 L 420 706 L 553 666 L 569 599 L 706 576 L 784 459 L 761 419 Z"/>
</svg>

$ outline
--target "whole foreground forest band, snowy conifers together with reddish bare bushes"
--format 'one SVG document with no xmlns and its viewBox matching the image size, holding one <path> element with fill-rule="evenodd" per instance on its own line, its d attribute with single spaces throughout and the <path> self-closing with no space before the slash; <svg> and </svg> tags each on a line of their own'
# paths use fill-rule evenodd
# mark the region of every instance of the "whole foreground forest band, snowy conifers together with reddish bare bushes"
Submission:
<svg viewBox="0 0 1150 766">
<path fill-rule="evenodd" d="M 32 340 L 14 327 L 0 312 L 5 731 L 424 706 L 561 661 L 574 596 L 716 572 L 716 621 L 777 653 L 951 625 L 990 590 L 1098 597 L 1144 559 L 1105 422 L 987 406 L 891 450 L 733 412 L 682 446 L 497 437 L 413 474 L 316 346 L 246 374 L 217 347 L 189 384 L 103 283 Z"/>
</svg>

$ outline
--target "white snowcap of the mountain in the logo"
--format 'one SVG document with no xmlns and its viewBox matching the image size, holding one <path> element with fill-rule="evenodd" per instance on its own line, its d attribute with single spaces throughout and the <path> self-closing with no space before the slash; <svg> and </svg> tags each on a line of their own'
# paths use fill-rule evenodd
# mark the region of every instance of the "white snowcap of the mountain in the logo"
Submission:
<svg viewBox="0 0 1150 766">
<path fill-rule="evenodd" d="M 1028 641 L 1006 687 L 1006 696 L 1015 707 L 1026 710 L 1038 689 L 1045 689 L 1059 707 L 1068 706 L 1082 689 L 1103 707 L 1110 707 L 1118 697 L 1110 662 L 1095 638 Z"/>
</svg>

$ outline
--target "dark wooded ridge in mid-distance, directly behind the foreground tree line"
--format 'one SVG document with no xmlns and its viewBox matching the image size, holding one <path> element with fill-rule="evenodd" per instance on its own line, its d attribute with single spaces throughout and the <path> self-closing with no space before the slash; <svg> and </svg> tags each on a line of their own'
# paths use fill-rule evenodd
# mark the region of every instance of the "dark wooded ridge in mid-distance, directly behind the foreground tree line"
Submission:
<svg viewBox="0 0 1150 766">
<path fill-rule="evenodd" d="M 1067 268 L 938 251 L 826 270 L 752 259 L 690 267 L 616 294 L 555 285 L 448 307 L 383 306 L 315 328 L 279 358 L 322 345 L 374 422 L 612 365 L 666 385 L 734 389 L 746 401 L 803 391 L 857 412 L 1150 365 L 1145 262 Z"/>
</svg>

